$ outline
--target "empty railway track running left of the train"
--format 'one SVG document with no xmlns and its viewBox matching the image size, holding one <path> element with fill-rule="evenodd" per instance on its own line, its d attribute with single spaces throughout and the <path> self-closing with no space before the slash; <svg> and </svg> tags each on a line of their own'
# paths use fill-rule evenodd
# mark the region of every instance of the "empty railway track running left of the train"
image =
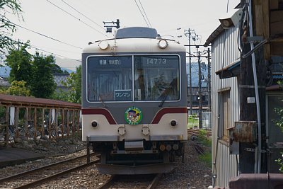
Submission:
<svg viewBox="0 0 283 189">
<path fill-rule="evenodd" d="M 30 188 L 98 163 L 98 160 L 94 160 L 89 164 L 83 164 L 82 160 L 86 162 L 86 155 L 1 178 L 0 188 Z"/>
</svg>

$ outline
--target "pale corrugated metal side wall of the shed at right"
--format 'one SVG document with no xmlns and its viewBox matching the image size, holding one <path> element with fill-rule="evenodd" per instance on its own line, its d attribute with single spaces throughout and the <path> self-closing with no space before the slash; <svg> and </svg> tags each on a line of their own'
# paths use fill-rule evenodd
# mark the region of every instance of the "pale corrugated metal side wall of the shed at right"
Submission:
<svg viewBox="0 0 283 189">
<path fill-rule="evenodd" d="M 218 132 L 218 116 L 219 116 L 219 90 L 221 88 L 231 88 L 231 122 L 229 127 L 233 126 L 236 120 L 239 120 L 239 98 L 238 98 L 238 82 L 237 78 L 219 79 L 215 71 L 223 69 L 240 57 L 238 51 L 237 38 L 238 28 L 224 30 L 212 42 L 212 165 L 214 173 L 216 173 L 216 185 L 227 186 L 229 179 L 237 176 L 236 155 L 229 154 L 229 144 L 217 140 Z"/>
</svg>

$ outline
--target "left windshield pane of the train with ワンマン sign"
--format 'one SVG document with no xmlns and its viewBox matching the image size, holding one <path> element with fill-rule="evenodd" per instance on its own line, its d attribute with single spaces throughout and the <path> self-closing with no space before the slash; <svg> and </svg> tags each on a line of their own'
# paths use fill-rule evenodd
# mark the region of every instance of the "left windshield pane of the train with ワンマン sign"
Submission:
<svg viewBox="0 0 283 189">
<path fill-rule="evenodd" d="M 132 101 L 132 56 L 88 57 L 88 101 Z"/>
</svg>

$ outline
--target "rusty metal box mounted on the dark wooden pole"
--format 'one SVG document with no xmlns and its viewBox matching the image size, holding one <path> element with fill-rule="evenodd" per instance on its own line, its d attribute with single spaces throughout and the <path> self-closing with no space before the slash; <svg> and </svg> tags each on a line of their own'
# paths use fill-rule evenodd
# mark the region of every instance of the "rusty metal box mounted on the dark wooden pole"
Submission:
<svg viewBox="0 0 283 189">
<path fill-rule="evenodd" d="M 257 127 L 255 121 L 237 121 L 235 127 L 229 128 L 230 140 L 234 142 L 255 142 Z"/>
</svg>

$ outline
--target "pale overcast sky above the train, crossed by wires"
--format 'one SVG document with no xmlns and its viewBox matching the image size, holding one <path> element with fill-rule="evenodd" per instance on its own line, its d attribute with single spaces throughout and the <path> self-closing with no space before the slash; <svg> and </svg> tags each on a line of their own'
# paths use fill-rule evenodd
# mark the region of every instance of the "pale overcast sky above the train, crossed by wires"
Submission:
<svg viewBox="0 0 283 189">
<path fill-rule="evenodd" d="M 143 26 L 156 28 L 163 38 L 188 45 L 185 30 L 194 30 L 203 45 L 219 26 L 219 18 L 229 16 L 240 0 L 19 0 L 23 19 L 7 13 L 13 23 L 21 25 L 15 40 L 30 41 L 43 55 L 56 55 L 57 64 L 75 70 L 81 51 L 90 41 L 112 38 L 103 22 L 120 20 L 120 28 Z M 227 13 L 228 11 L 228 13 Z M 32 30 L 32 31 L 31 31 Z M 37 34 L 37 33 L 40 33 Z M 45 35 L 42 36 L 42 35 Z M 52 40 L 52 39 L 54 40 Z M 205 49 L 201 49 L 205 50 Z M 196 52 L 191 48 L 191 52 Z M 68 59 L 71 59 L 70 61 Z M 192 61 L 194 61 L 192 59 Z M 203 60 L 205 62 L 205 60 Z"/>
</svg>

